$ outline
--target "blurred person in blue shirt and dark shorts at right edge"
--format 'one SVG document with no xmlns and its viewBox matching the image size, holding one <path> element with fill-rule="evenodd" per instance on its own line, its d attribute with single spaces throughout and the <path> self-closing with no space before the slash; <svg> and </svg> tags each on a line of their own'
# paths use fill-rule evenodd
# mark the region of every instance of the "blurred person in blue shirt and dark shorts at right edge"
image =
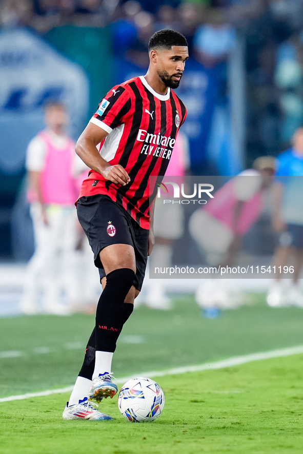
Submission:
<svg viewBox="0 0 303 454">
<path fill-rule="evenodd" d="M 272 307 L 295 305 L 303 307 L 299 285 L 303 265 L 303 128 L 292 138 L 292 147 L 277 156 L 276 181 L 273 200 L 273 228 L 279 233 L 279 245 L 273 264 L 276 275 L 267 294 Z M 293 265 L 289 287 L 284 266 Z"/>
</svg>

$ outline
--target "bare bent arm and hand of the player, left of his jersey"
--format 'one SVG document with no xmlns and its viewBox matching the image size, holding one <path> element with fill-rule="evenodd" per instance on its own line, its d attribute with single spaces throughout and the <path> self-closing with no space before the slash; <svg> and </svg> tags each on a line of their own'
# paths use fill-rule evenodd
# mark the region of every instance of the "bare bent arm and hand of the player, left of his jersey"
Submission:
<svg viewBox="0 0 303 454">
<path fill-rule="evenodd" d="M 90 169 L 101 174 L 106 180 L 125 186 L 130 181 L 126 170 L 120 164 L 111 166 L 108 161 L 100 156 L 96 148 L 98 143 L 102 142 L 107 135 L 108 133 L 104 129 L 91 122 L 88 123 L 76 143 L 76 153 Z"/>
</svg>

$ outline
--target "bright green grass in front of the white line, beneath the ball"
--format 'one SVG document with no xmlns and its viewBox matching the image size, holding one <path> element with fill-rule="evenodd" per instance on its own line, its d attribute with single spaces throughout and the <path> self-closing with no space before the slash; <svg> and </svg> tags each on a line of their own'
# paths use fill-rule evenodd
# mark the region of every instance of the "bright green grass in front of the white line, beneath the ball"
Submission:
<svg viewBox="0 0 303 454">
<path fill-rule="evenodd" d="M 166 404 L 154 423 L 63 421 L 54 395 L 0 405 L 2 454 L 296 454 L 303 444 L 303 355 L 158 379 Z"/>
</svg>

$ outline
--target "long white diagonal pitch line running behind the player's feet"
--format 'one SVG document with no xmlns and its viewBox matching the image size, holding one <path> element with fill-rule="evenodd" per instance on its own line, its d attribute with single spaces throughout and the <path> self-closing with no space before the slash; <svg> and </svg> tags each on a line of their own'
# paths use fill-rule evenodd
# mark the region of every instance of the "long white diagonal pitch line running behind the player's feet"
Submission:
<svg viewBox="0 0 303 454">
<path fill-rule="evenodd" d="M 152 370 L 150 372 L 144 372 L 142 374 L 134 374 L 129 377 L 122 377 L 115 382 L 117 384 L 124 384 L 131 378 L 135 377 L 164 377 L 166 375 L 178 375 L 178 374 L 187 374 L 188 372 L 200 372 L 201 370 L 211 370 L 211 369 L 224 369 L 225 367 L 238 366 L 240 364 L 250 363 L 252 361 L 262 361 L 265 359 L 272 358 L 281 358 L 283 356 L 292 356 L 303 353 L 303 345 L 297 347 L 289 348 L 280 348 L 278 350 L 270 350 L 269 352 L 260 352 L 260 353 L 251 353 L 249 355 L 243 356 L 234 356 L 232 358 L 227 358 L 221 361 L 216 361 L 213 363 L 204 363 L 198 364 L 195 366 L 184 366 L 184 367 L 175 367 L 173 369 L 166 370 Z M 67 386 L 65 388 L 58 389 L 48 389 L 47 391 L 41 391 L 39 393 L 27 393 L 19 396 L 9 396 L 0 399 L 0 402 L 9 402 L 12 400 L 23 400 L 29 399 L 31 397 L 41 397 L 41 396 L 50 396 L 51 394 L 62 394 L 68 393 L 73 389 L 73 386 Z"/>
</svg>

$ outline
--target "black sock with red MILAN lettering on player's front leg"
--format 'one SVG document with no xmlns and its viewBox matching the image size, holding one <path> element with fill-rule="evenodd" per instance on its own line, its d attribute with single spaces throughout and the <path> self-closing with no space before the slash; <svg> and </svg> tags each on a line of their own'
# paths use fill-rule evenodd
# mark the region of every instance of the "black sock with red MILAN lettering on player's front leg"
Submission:
<svg viewBox="0 0 303 454">
<path fill-rule="evenodd" d="M 114 270 L 106 276 L 106 286 L 96 311 L 96 349 L 114 352 L 124 323 L 124 300 L 133 285 L 130 268 Z"/>
</svg>

